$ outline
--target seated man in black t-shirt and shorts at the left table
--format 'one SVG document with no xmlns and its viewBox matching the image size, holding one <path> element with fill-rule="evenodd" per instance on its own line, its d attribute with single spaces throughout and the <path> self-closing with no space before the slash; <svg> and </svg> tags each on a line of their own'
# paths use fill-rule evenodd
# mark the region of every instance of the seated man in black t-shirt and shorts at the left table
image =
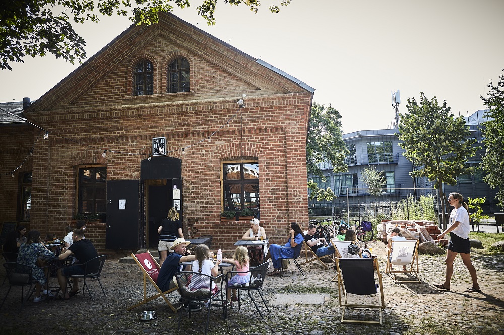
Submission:
<svg viewBox="0 0 504 335">
<path fill-rule="evenodd" d="M 89 260 L 92 260 L 95 257 L 98 257 L 93 243 L 91 243 L 91 241 L 89 241 L 88 239 L 84 239 L 83 229 L 74 229 L 74 231 L 72 232 L 72 241 L 73 243 L 69 246 L 68 250 L 65 251 L 65 249 L 63 249 L 64 252 L 59 255 L 60 260 L 64 260 L 71 255 L 73 255 L 77 259 L 76 263 L 70 266 L 59 268 L 57 272 L 59 287 L 61 287 L 62 290 L 61 297 L 64 300 L 76 295 L 79 291 L 79 279 L 74 278 L 74 285 L 72 285 L 72 290 L 67 293 L 67 277 L 72 275 L 84 275 L 84 266 L 82 266 L 82 264 L 86 263 Z M 99 262 L 96 261 L 96 263 L 92 263 L 93 264 L 88 264 L 88 273 L 95 273 L 98 271 L 100 265 Z"/>
</svg>

